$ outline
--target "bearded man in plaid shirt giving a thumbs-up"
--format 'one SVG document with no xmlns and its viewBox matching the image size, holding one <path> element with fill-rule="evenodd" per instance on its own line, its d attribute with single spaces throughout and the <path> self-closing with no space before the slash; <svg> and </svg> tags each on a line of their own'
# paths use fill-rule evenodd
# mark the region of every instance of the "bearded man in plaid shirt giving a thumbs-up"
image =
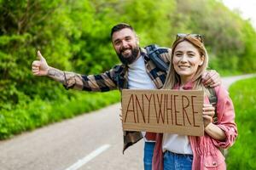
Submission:
<svg viewBox="0 0 256 170">
<path fill-rule="evenodd" d="M 80 75 L 74 72 L 60 71 L 49 66 L 44 57 L 38 52 L 38 58 L 32 63 L 32 72 L 36 76 L 48 76 L 63 83 L 65 88 L 75 88 L 86 91 L 109 91 L 116 88 L 129 89 L 159 89 L 166 80 L 166 71 L 161 71 L 148 58 L 147 51 L 139 47 L 139 40 L 133 28 L 125 23 L 113 26 L 111 31 L 113 48 L 118 55 L 121 65 L 115 65 L 110 71 L 99 75 Z M 169 63 L 171 49 L 160 48 L 160 58 Z M 216 71 L 208 72 L 204 77 L 210 86 L 219 84 Z M 213 81 L 214 80 L 214 81 Z M 144 136 L 144 169 L 151 169 L 154 150 L 154 133 L 142 135 L 139 132 L 124 132 L 124 150 L 135 144 Z"/>
</svg>

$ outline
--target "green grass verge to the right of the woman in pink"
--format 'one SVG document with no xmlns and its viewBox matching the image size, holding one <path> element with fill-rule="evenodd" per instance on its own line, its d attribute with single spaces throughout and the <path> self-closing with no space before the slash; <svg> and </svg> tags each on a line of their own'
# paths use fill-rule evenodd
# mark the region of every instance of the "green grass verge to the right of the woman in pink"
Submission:
<svg viewBox="0 0 256 170">
<path fill-rule="evenodd" d="M 230 97 L 235 105 L 238 138 L 229 149 L 228 169 L 256 169 L 256 78 L 233 84 Z"/>
</svg>

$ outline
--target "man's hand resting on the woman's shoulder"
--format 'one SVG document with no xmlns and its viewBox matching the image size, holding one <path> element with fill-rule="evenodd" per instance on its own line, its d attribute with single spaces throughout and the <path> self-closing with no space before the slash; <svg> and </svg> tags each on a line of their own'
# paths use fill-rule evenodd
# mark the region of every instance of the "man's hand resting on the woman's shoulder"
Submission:
<svg viewBox="0 0 256 170">
<path fill-rule="evenodd" d="M 206 71 L 202 74 L 202 82 L 203 84 L 211 88 L 215 88 L 216 86 L 220 85 L 221 80 L 217 71 Z"/>
</svg>

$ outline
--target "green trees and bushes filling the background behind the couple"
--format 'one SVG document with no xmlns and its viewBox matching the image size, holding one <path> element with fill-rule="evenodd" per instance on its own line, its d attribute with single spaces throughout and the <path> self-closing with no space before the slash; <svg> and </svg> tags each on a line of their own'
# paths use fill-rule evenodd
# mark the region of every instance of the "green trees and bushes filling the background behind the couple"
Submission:
<svg viewBox="0 0 256 170">
<path fill-rule="evenodd" d="M 201 33 L 211 57 L 210 69 L 224 74 L 256 70 L 255 30 L 217 0 L 1 0 L 0 13 L 0 116 L 9 114 L 9 120 L 37 119 L 27 116 L 38 111 L 34 105 L 51 111 L 55 102 L 73 103 L 78 95 L 46 77 L 32 76 L 38 49 L 49 65 L 61 70 L 107 71 L 119 62 L 109 36 L 119 22 L 134 26 L 142 46 L 171 47 L 177 32 Z M 45 117 L 35 127 L 55 120 Z"/>
</svg>

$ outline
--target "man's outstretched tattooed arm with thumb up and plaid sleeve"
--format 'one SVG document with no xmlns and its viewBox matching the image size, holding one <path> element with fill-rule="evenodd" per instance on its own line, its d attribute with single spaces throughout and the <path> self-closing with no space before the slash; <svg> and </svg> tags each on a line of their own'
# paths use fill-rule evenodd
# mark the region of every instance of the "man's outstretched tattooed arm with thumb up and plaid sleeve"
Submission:
<svg viewBox="0 0 256 170">
<path fill-rule="evenodd" d="M 69 71 L 60 71 L 47 64 L 46 59 L 38 51 L 38 59 L 32 62 L 32 73 L 35 76 L 47 76 L 61 82 L 65 88 L 86 91 L 109 91 L 116 88 L 111 71 L 99 75 L 83 76 Z"/>
</svg>

